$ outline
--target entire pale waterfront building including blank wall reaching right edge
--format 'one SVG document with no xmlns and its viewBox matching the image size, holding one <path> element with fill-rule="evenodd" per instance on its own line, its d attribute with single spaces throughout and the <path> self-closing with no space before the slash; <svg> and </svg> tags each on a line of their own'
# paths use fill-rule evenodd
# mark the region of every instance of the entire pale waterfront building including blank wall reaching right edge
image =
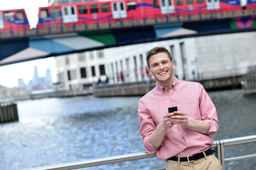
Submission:
<svg viewBox="0 0 256 170">
<path fill-rule="evenodd" d="M 194 80 L 243 75 L 256 65 L 256 32 L 164 40 L 56 57 L 60 89 L 91 86 L 108 77 L 109 84 L 146 81 L 146 53 L 163 46 L 175 61 L 174 75 Z M 121 76 L 121 72 L 122 75 Z"/>
</svg>

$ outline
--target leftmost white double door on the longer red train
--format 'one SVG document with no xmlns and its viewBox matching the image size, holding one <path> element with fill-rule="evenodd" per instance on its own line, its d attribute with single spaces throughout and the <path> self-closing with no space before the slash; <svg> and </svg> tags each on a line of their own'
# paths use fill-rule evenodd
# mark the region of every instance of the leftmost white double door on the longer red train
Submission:
<svg viewBox="0 0 256 170">
<path fill-rule="evenodd" d="M 63 23 L 76 23 L 78 21 L 76 6 L 62 7 Z"/>
</svg>

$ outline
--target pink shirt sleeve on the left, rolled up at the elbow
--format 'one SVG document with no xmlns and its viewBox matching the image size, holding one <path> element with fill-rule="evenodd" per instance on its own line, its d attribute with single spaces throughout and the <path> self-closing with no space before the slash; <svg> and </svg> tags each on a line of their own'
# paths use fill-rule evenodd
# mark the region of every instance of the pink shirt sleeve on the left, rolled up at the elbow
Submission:
<svg viewBox="0 0 256 170">
<path fill-rule="evenodd" d="M 154 154 L 160 147 L 156 148 L 150 143 L 149 135 L 151 135 L 154 132 L 156 126 L 151 115 L 149 114 L 148 109 L 145 108 L 145 103 L 142 101 L 142 99 L 140 99 L 139 101 L 138 114 L 140 120 L 140 134 L 142 135 L 143 138 L 145 150 L 149 154 Z"/>
</svg>

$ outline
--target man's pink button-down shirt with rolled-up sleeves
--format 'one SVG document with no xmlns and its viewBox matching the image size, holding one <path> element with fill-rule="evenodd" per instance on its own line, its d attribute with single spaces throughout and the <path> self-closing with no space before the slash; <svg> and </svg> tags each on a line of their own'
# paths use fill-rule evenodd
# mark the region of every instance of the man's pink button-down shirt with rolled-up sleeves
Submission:
<svg viewBox="0 0 256 170">
<path fill-rule="evenodd" d="M 148 137 L 163 120 L 168 107 L 177 106 L 188 118 L 207 121 L 210 129 L 207 135 L 183 128 L 175 124 L 166 130 L 163 143 L 155 148 Z M 175 78 L 168 90 L 156 85 L 139 101 L 140 134 L 143 137 L 145 150 L 149 154 L 156 153 L 160 160 L 172 156 L 186 157 L 204 152 L 213 144 L 210 135 L 216 134 L 219 128 L 217 112 L 204 87 L 196 82 L 180 81 Z"/>
</svg>

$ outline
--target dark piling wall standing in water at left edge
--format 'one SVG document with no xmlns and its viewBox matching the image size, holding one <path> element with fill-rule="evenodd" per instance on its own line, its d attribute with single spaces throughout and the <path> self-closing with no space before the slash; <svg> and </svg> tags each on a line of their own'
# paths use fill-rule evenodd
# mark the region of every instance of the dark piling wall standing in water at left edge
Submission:
<svg viewBox="0 0 256 170">
<path fill-rule="evenodd" d="M 0 103 L 0 123 L 18 121 L 17 104 L 15 103 Z"/>
</svg>

